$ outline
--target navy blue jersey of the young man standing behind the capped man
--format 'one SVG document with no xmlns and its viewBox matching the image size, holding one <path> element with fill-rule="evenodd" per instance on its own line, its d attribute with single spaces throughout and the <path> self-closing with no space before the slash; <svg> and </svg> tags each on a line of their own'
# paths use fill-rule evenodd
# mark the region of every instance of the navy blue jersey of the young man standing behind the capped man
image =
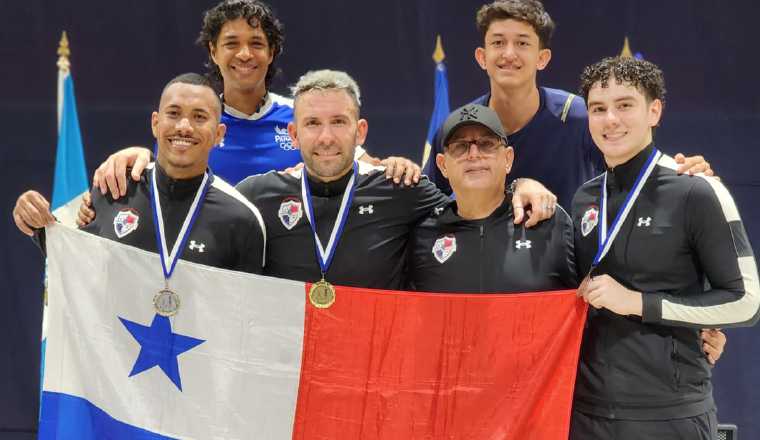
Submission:
<svg viewBox="0 0 760 440">
<path fill-rule="evenodd" d="M 570 206 L 575 190 L 604 170 L 604 161 L 588 131 L 586 105 L 564 90 L 539 87 L 540 105 L 533 119 L 507 136 L 515 149 L 509 180 L 530 177 L 557 195 L 559 204 Z M 491 95 L 473 101 L 488 106 Z M 435 154 L 443 151 L 440 130 L 423 170 L 442 191 L 451 192 L 448 181 L 435 164 Z"/>
</svg>

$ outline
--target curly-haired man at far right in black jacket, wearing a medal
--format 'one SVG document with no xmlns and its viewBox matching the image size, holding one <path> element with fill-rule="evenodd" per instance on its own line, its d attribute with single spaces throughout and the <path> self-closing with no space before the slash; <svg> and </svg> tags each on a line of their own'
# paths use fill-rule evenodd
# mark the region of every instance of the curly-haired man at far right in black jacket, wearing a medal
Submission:
<svg viewBox="0 0 760 440">
<path fill-rule="evenodd" d="M 586 67 L 581 94 L 606 172 L 573 199 L 583 338 L 571 439 L 714 439 L 702 327 L 757 322 L 752 248 L 721 182 L 676 173 L 653 142 L 665 84 L 644 60 Z"/>
</svg>

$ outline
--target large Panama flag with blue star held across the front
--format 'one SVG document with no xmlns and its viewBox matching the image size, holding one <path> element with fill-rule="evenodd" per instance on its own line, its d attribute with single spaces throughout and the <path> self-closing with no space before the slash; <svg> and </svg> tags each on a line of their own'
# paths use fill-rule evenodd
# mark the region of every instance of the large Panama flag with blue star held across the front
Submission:
<svg viewBox="0 0 760 440">
<path fill-rule="evenodd" d="M 47 229 L 43 439 L 567 438 L 586 308 L 572 291 L 309 284 Z"/>
</svg>

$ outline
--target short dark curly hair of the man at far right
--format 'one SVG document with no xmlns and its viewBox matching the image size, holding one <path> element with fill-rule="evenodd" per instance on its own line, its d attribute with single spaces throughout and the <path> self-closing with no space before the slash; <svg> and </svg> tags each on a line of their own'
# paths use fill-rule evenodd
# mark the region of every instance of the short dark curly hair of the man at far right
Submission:
<svg viewBox="0 0 760 440">
<path fill-rule="evenodd" d="M 588 92 L 596 83 L 608 87 L 610 78 L 618 84 L 629 83 L 644 94 L 647 101 L 659 99 L 665 104 L 665 78 L 656 64 L 631 57 L 604 58 L 581 73 L 579 93 L 588 102 Z"/>
</svg>

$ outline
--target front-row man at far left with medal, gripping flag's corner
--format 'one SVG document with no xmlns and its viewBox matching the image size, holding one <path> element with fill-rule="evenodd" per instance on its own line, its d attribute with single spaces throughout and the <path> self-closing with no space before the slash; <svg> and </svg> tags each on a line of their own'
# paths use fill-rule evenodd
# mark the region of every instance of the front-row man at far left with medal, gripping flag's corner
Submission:
<svg viewBox="0 0 760 440">
<path fill-rule="evenodd" d="M 168 249 L 180 240 L 178 258 L 261 273 L 266 230 L 259 210 L 208 168 L 209 151 L 224 135 L 221 105 L 201 75 L 183 74 L 169 81 L 151 119 L 158 144 L 156 163 L 143 171 L 139 181 L 129 180 L 126 194 L 118 200 L 93 188 L 98 215 L 82 229 L 159 252 L 154 222 L 160 219 Z M 152 188 L 157 194 L 155 212 Z M 33 236 L 43 252 L 45 230 L 41 228 L 55 220 L 49 206 L 42 195 L 27 191 L 13 211 L 18 228 Z M 193 222 L 190 218 L 196 208 Z"/>
</svg>

